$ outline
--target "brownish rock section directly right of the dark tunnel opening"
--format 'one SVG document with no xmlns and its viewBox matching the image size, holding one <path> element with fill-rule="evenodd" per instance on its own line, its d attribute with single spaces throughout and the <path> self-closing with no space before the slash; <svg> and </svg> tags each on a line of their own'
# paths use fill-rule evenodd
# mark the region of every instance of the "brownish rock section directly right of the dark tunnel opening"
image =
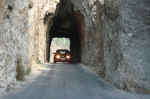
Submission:
<svg viewBox="0 0 150 99">
<path fill-rule="evenodd" d="M 101 31 L 104 1 L 72 0 L 72 3 L 74 5 L 74 11 L 80 12 L 81 16 L 83 16 L 83 23 L 80 23 L 82 26 L 80 35 L 82 63 L 91 66 L 92 69 L 104 76 L 103 35 Z"/>
</svg>

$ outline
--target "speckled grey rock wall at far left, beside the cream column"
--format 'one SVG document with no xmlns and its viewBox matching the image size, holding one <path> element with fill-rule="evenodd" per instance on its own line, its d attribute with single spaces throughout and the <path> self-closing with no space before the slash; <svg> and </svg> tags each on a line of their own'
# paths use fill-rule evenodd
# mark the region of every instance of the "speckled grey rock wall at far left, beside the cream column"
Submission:
<svg viewBox="0 0 150 99">
<path fill-rule="evenodd" d="M 26 0 L 0 0 L 0 89 L 15 85 L 18 57 L 28 68 L 27 18 Z"/>
</svg>

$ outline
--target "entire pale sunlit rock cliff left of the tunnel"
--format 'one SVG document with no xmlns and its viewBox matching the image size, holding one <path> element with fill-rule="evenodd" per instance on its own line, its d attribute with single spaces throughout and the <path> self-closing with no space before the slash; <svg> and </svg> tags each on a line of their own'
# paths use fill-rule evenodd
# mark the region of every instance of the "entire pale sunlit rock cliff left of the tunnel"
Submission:
<svg viewBox="0 0 150 99">
<path fill-rule="evenodd" d="M 44 63 L 44 18 L 55 12 L 57 3 L 58 0 L 0 0 L 0 88 L 15 85 L 19 60 L 25 73 L 37 59 Z"/>
</svg>

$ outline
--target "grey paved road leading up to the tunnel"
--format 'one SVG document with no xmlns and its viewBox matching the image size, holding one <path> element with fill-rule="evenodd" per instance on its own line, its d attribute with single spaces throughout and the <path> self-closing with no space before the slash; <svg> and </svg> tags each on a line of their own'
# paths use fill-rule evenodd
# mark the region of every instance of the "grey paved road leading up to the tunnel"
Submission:
<svg viewBox="0 0 150 99">
<path fill-rule="evenodd" d="M 2 99 L 150 99 L 149 96 L 121 92 L 105 84 L 80 65 L 52 64 L 50 70 L 22 91 Z"/>
</svg>

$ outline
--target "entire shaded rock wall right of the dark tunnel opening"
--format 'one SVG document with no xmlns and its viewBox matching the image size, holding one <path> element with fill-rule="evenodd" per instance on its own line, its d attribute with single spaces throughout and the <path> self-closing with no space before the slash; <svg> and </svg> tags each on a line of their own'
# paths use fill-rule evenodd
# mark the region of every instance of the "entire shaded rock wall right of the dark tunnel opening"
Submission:
<svg viewBox="0 0 150 99">
<path fill-rule="evenodd" d="M 148 0 L 72 0 L 84 16 L 82 63 L 117 88 L 150 93 Z"/>
</svg>

